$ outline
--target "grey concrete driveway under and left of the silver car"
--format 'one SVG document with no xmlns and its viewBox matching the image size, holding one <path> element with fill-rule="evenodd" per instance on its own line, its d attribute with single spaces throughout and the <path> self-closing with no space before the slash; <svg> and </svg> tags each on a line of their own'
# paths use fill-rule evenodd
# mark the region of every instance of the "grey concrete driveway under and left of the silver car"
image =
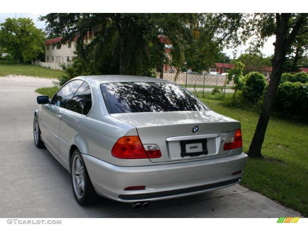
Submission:
<svg viewBox="0 0 308 231">
<path fill-rule="evenodd" d="M 134 210 L 101 198 L 79 206 L 70 174 L 46 150 L 34 146 L 37 87 L 50 79 L 0 77 L 0 217 L 282 217 L 301 216 L 240 185 Z"/>
</svg>

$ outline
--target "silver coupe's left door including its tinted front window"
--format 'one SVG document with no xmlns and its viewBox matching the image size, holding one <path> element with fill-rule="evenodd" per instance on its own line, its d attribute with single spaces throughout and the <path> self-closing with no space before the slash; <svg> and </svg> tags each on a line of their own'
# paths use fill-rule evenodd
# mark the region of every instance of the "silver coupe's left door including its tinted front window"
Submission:
<svg viewBox="0 0 308 231">
<path fill-rule="evenodd" d="M 82 80 L 73 80 L 65 84 L 52 98 L 50 104 L 43 108 L 43 140 L 48 149 L 59 155 L 59 132 L 63 110 L 68 107 L 69 101 L 78 90 Z"/>
</svg>

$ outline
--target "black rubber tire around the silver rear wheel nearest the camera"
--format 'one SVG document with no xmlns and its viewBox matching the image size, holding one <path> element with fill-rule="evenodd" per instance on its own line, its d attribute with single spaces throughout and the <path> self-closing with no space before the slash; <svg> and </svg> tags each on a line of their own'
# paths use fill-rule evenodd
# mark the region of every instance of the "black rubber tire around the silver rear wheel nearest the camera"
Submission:
<svg viewBox="0 0 308 231">
<path fill-rule="evenodd" d="M 83 193 L 82 193 L 82 196 L 79 198 L 75 192 L 75 189 L 74 189 L 74 178 L 75 177 L 75 172 L 73 171 L 73 160 L 74 160 L 74 157 L 78 155 L 80 160 L 81 160 L 81 163 L 83 165 L 83 168 L 84 168 L 84 190 L 83 190 Z M 77 157 L 76 157 L 77 158 Z M 88 174 L 88 171 L 87 171 L 87 168 L 86 168 L 86 165 L 84 164 L 84 161 L 83 161 L 83 158 L 79 152 L 78 149 L 75 149 L 73 154 L 72 154 L 72 158 L 71 158 L 71 183 L 72 183 L 72 189 L 73 189 L 73 193 L 74 193 L 74 196 L 75 196 L 75 199 L 76 201 L 78 202 L 79 205 L 90 205 L 90 204 L 94 204 L 97 199 L 98 199 L 98 195 L 97 193 L 95 192 L 95 189 L 92 185 L 92 182 L 90 180 L 90 177 L 89 177 L 89 174 Z"/>
</svg>

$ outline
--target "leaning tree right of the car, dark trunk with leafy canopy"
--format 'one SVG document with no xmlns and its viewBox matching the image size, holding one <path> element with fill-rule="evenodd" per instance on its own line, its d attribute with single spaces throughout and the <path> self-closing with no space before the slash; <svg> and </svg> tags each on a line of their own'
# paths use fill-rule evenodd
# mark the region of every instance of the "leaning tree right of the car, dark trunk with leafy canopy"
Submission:
<svg viewBox="0 0 308 231">
<path fill-rule="evenodd" d="M 257 123 L 253 140 L 250 144 L 248 155 L 262 157 L 261 147 L 270 114 L 273 109 L 274 99 L 278 84 L 283 72 L 283 65 L 290 49 L 296 41 L 308 34 L 307 13 L 259 13 L 259 14 L 206 14 L 208 25 L 217 34 L 215 37 L 226 47 L 237 47 L 253 38 L 251 45 L 259 48 L 270 36 L 275 35 L 274 56 L 272 61 L 271 81 L 267 88 L 261 114 Z M 305 48 L 306 50 L 306 48 Z"/>
</svg>

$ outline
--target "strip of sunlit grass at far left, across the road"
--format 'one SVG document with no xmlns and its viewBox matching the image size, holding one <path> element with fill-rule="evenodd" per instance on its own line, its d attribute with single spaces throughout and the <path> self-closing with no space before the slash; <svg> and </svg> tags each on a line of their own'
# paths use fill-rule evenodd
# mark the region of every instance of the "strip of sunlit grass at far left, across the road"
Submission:
<svg viewBox="0 0 308 231">
<path fill-rule="evenodd" d="M 26 75 L 41 78 L 59 78 L 63 71 L 52 70 L 30 64 L 0 64 L 0 76 L 6 75 Z"/>
</svg>

